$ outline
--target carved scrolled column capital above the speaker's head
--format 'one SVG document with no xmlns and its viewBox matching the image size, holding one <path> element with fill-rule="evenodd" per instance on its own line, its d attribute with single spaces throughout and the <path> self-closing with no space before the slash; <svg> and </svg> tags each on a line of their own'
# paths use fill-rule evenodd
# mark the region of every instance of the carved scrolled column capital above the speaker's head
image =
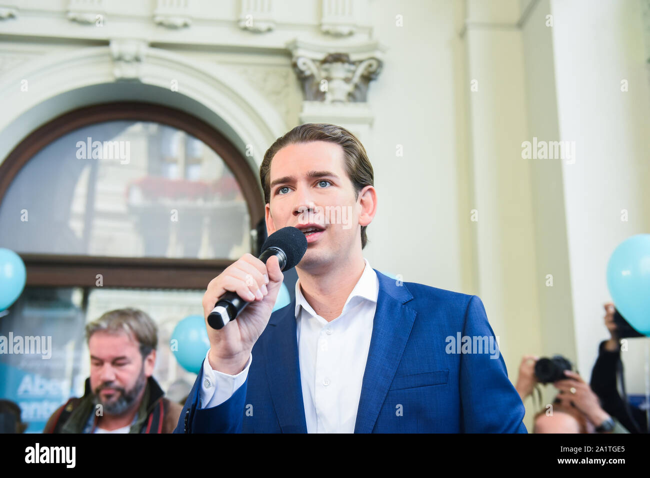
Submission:
<svg viewBox="0 0 650 478">
<path fill-rule="evenodd" d="M 367 101 L 368 84 L 378 77 L 382 61 L 370 57 L 352 61 L 348 53 L 330 53 L 320 62 L 294 57 L 294 71 L 307 101 L 348 103 Z"/>
</svg>

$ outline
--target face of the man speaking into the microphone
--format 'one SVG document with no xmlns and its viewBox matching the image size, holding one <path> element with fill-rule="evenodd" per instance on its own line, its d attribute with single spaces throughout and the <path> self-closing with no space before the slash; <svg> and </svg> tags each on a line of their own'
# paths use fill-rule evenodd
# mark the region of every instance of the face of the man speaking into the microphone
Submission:
<svg viewBox="0 0 650 478">
<path fill-rule="evenodd" d="M 301 269 L 314 271 L 346 260 L 355 247 L 361 250 L 361 226 L 374 217 L 376 195 L 372 186 L 365 186 L 355 197 L 341 145 L 315 141 L 283 147 L 271 161 L 269 182 L 269 235 L 309 223 L 320 229 L 307 236 Z"/>
</svg>

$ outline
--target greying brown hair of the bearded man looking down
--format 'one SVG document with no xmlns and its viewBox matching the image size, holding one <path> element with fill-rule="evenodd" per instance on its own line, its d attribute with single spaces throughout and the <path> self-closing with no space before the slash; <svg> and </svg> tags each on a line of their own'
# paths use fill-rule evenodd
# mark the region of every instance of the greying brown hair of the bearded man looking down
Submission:
<svg viewBox="0 0 650 478">
<path fill-rule="evenodd" d="M 145 359 L 158 346 L 156 324 L 142 310 L 137 308 L 118 308 L 110 310 L 86 325 L 86 341 L 96 332 L 126 333 L 140 344 L 140 354 Z"/>
</svg>

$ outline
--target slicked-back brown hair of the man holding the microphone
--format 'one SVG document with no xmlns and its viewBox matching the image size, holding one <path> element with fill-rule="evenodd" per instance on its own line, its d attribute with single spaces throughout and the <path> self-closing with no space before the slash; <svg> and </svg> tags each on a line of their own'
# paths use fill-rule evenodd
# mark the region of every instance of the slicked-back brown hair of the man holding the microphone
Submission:
<svg viewBox="0 0 650 478">
<path fill-rule="evenodd" d="M 305 123 L 298 125 L 284 136 L 280 136 L 272 144 L 264 155 L 261 166 L 259 166 L 259 181 L 264 190 L 264 202 L 270 203 L 270 170 L 271 160 L 276 153 L 285 146 L 291 144 L 310 143 L 313 141 L 326 141 L 343 147 L 345 171 L 352 181 L 355 190 L 355 199 L 358 199 L 359 192 L 365 186 L 374 186 L 374 173 L 372 164 L 363 144 L 354 134 L 345 128 L 330 123 Z M 361 249 L 368 242 L 366 235 L 367 226 L 361 226 Z"/>
</svg>

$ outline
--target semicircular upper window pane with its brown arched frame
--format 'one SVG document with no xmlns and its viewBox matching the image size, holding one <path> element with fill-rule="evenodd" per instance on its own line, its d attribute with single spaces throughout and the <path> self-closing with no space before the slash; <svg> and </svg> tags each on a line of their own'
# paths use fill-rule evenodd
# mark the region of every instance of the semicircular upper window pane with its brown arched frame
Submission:
<svg viewBox="0 0 650 478">
<path fill-rule="evenodd" d="M 205 288 L 251 252 L 257 177 L 218 131 L 172 108 L 110 103 L 32 132 L 0 165 L 0 247 L 28 285 Z"/>
</svg>

